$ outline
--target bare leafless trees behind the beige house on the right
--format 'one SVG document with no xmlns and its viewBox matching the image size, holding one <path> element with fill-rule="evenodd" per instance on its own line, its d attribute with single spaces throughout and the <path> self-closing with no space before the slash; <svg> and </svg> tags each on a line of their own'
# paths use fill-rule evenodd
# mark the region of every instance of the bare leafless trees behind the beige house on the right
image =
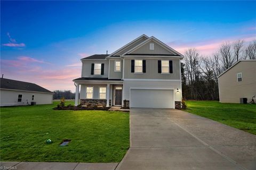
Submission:
<svg viewBox="0 0 256 170">
<path fill-rule="evenodd" d="M 190 100 L 219 100 L 218 76 L 238 60 L 256 59 L 256 40 L 223 43 L 210 56 L 189 48 L 181 63 L 182 96 Z"/>
</svg>

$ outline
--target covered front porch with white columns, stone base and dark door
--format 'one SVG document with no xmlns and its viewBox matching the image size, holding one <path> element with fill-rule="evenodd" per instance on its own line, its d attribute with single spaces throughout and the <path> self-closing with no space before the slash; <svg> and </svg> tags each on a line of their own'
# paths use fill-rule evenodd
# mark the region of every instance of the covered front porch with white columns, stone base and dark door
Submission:
<svg viewBox="0 0 256 170">
<path fill-rule="evenodd" d="M 74 80 L 75 106 L 123 106 L 123 80 Z"/>
</svg>

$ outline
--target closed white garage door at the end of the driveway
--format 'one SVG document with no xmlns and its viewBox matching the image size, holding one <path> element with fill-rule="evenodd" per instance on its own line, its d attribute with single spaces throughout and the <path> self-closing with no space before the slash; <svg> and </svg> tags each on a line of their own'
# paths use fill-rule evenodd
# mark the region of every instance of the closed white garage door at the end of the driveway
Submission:
<svg viewBox="0 0 256 170">
<path fill-rule="evenodd" d="M 174 108 L 173 90 L 131 89 L 131 108 Z"/>
</svg>

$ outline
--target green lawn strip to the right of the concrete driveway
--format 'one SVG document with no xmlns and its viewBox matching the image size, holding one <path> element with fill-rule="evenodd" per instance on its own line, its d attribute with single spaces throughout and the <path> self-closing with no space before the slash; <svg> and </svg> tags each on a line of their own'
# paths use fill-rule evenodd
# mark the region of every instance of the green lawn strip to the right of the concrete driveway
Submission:
<svg viewBox="0 0 256 170">
<path fill-rule="evenodd" d="M 186 101 L 187 112 L 256 134 L 256 104 Z"/>
</svg>

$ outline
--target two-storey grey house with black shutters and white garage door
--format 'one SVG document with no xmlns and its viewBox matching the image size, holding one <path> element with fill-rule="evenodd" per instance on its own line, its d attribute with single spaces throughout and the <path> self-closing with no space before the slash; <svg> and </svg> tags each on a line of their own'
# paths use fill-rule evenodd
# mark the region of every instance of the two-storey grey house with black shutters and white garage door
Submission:
<svg viewBox="0 0 256 170">
<path fill-rule="evenodd" d="M 95 54 L 83 58 L 82 76 L 73 80 L 75 105 L 180 107 L 182 58 L 183 55 L 173 48 L 146 35 L 110 55 Z"/>
</svg>

